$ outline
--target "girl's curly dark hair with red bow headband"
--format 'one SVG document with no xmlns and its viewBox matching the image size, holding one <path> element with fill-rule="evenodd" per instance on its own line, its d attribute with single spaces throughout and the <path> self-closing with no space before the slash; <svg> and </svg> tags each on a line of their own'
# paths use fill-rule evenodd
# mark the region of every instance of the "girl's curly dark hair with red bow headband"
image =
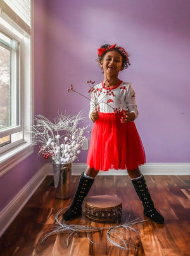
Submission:
<svg viewBox="0 0 190 256">
<path fill-rule="evenodd" d="M 100 52 L 102 51 L 103 53 L 100 54 Z M 124 48 L 116 46 L 116 44 L 114 44 L 113 46 L 111 46 L 111 44 L 103 44 L 101 48 L 98 49 L 98 58 L 96 59 L 98 64 L 100 64 L 101 60 L 103 60 L 106 53 L 108 53 L 109 51 L 117 51 L 122 56 L 122 67 L 124 67 L 124 69 L 127 69 L 127 67 L 129 67 L 129 53 L 127 53 Z"/>
</svg>

